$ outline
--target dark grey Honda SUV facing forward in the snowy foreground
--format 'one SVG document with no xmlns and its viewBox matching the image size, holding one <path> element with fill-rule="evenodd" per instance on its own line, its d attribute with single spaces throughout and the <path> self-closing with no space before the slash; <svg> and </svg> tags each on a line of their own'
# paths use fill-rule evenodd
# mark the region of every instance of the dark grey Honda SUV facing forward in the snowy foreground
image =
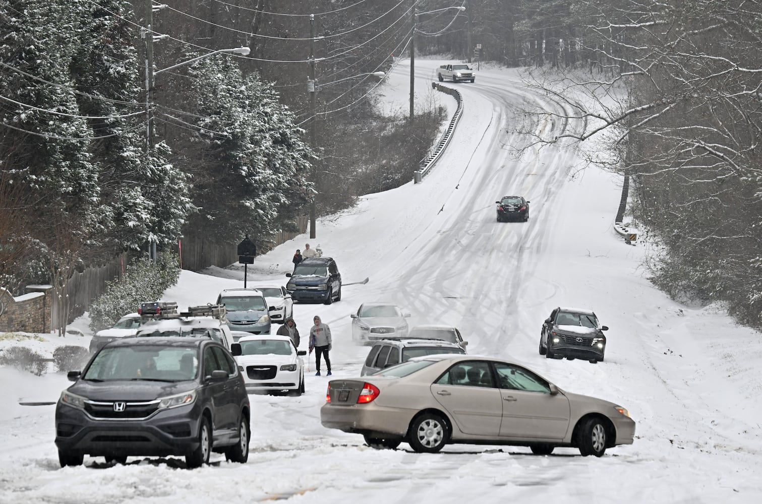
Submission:
<svg viewBox="0 0 762 504">
<path fill-rule="evenodd" d="M 248 459 L 249 401 L 230 352 L 210 338 L 127 337 L 103 346 L 56 404 L 61 467 L 85 455 L 181 455 L 187 467 L 212 451 Z"/>
</svg>

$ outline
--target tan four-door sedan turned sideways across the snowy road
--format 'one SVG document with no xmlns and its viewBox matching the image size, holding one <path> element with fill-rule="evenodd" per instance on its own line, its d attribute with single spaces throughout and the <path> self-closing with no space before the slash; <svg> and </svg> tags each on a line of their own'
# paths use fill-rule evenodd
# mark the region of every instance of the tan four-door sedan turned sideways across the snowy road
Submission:
<svg viewBox="0 0 762 504">
<path fill-rule="evenodd" d="M 635 422 L 607 400 L 562 391 L 514 362 L 438 355 L 411 359 L 363 378 L 328 382 L 323 426 L 365 436 L 373 448 L 408 442 L 436 453 L 448 443 L 556 446 L 604 455 L 631 445 Z"/>
</svg>

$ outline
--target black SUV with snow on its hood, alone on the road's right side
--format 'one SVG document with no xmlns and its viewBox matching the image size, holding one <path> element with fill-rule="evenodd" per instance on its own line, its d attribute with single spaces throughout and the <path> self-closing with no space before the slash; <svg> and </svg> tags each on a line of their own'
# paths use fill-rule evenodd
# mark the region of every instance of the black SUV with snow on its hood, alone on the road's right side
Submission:
<svg viewBox="0 0 762 504">
<path fill-rule="evenodd" d="M 598 322 L 594 312 L 584 308 L 555 308 L 543 323 L 539 355 L 548 359 L 604 360 L 608 327 Z"/>
</svg>

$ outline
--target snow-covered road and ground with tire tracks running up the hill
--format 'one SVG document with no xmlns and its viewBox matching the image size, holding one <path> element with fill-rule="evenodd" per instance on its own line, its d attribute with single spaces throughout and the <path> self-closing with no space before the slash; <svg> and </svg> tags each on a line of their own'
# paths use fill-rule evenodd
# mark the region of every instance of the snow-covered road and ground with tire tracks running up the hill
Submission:
<svg viewBox="0 0 762 504">
<path fill-rule="evenodd" d="M 417 100 L 427 99 L 439 64 L 416 62 Z M 408 72 L 399 62 L 383 85 L 388 110 L 405 110 Z M 463 117 L 423 183 L 320 219 L 319 238 L 301 236 L 256 258 L 249 285 L 284 284 L 293 251 L 320 244 L 344 282 L 370 278 L 346 285 L 334 305 L 295 305 L 303 333 L 314 314 L 331 326 L 335 378 L 359 375 L 367 355 L 351 343 L 349 315 L 363 301 L 394 301 L 411 312 L 411 324 L 459 327 L 469 353 L 516 359 L 561 388 L 627 407 L 637 422 L 633 445 L 603 458 L 483 445 L 450 445 L 437 455 L 406 444 L 376 451 L 360 435 L 320 425 L 326 378 L 309 375 L 302 397 L 251 396 L 248 464 L 217 455 L 210 467 L 186 471 L 180 458 L 114 467 L 85 458 L 83 467 L 61 469 L 54 407 L 18 400 L 56 400 L 66 376 L 0 367 L 0 502 L 758 502 L 760 334 L 720 306 L 680 305 L 648 282 L 644 245 L 626 245 L 613 231 L 616 177 L 577 172 L 580 157 L 569 145 L 517 155 L 527 139 L 508 132 L 518 120 L 511 104 L 559 105 L 526 91 L 514 70 L 482 68 L 475 84 L 454 86 L 463 92 Z M 431 99 L 452 107 L 448 95 Z M 580 127 L 535 126 L 550 137 Z M 509 193 L 530 199 L 529 222 L 495 222 L 495 200 Z M 197 305 L 242 286 L 242 266 L 206 273 L 184 271 L 165 299 Z M 539 356 L 540 326 L 559 305 L 592 308 L 610 327 L 605 362 Z M 0 347 L 88 344 L 86 336 L 43 340 L 0 340 Z"/>
</svg>

